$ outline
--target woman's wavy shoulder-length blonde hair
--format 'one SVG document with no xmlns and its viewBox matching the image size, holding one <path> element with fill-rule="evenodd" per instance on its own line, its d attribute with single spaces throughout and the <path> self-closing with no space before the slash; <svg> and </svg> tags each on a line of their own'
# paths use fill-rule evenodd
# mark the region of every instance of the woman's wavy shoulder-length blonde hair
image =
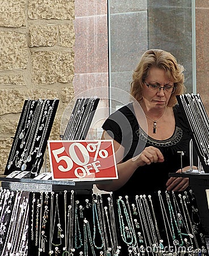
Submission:
<svg viewBox="0 0 209 256">
<path fill-rule="evenodd" d="M 138 102 L 141 100 L 144 81 L 149 75 L 149 69 L 152 67 L 164 69 L 169 81 L 176 86 L 175 92 L 171 94 L 168 102 L 168 106 L 173 107 L 177 104 L 175 96 L 186 92 L 185 76 L 183 75 L 184 68 L 177 63 L 177 60 L 170 52 L 162 49 L 149 49 L 141 56 L 139 64 L 132 75 L 131 96 Z"/>
</svg>

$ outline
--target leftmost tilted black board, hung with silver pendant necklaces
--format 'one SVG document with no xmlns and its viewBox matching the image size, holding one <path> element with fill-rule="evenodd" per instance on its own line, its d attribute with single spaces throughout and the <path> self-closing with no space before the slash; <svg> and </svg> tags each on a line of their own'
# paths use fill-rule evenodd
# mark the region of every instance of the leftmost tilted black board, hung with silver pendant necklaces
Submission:
<svg viewBox="0 0 209 256">
<path fill-rule="evenodd" d="M 59 100 L 26 100 L 7 160 L 5 175 L 29 171 L 37 176 L 44 162 L 44 152 Z"/>
</svg>

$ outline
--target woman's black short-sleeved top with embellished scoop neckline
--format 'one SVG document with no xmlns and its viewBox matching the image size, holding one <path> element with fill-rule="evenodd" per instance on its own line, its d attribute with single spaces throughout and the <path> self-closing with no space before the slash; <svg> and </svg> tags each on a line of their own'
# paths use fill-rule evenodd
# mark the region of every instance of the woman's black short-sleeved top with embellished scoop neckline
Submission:
<svg viewBox="0 0 209 256">
<path fill-rule="evenodd" d="M 141 129 L 135 117 L 132 103 L 116 110 L 103 123 L 102 128 L 125 148 L 123 162 L 140 154 L 144 147 L 149 146 L 159 148 L 165 159 L 163 163 L 151 163 L 137 168 L 127 183 L 115 191 L 116 195 L 137 195 L 139 192 L 165 191 L 165 184 L 169 179 L 168 174 L 181 168 L 181 153 L 178 151 L 185 151 L 182 156 L 182 166 L 190 165 L 190 129 L 178 105 L 174 106 L 173 111 L 175 130 L 172 137 L 164 141 L 149 137 Z"/>
</svg>

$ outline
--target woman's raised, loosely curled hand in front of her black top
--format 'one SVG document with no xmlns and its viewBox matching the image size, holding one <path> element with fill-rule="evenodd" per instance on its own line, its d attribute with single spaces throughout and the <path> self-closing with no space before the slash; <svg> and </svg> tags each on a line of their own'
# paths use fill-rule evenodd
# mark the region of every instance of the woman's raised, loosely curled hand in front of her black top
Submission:
<svg viewBox="0 0 209 256">
<path fill-rule="evenodd" d="M 145 147 L 143 152 L 141 152 L 140 155 L 135 156 L 132 160 L 136 161 L 136 167 L 139 167 L 144 166 L 145 164 L 164 162 L 164 156 L 158 148 L 150 146 Z"/>
</svg>

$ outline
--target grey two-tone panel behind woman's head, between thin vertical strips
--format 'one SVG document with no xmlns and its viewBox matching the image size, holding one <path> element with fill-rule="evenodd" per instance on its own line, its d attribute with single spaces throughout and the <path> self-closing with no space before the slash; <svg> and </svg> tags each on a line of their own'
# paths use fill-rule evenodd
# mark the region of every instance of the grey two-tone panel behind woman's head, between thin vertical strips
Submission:
<svg viewBox="0 0 209 256">
<path fill-rule="evenodd" d="M 142 53 L 151 48 L 164 49 L 177 57 L 178 63 L 185 67 L 187 92 L 193 92 L 195 46 L 191 2 L 108 0 L 108 64 L 112 109 L 118 108 L 119 101 L 127 97 L 132 72 Z M 118 90 L 122 92 L 118 94 Z M 126 100 L 128 102 L 129 98 Z"/>
</svg>

